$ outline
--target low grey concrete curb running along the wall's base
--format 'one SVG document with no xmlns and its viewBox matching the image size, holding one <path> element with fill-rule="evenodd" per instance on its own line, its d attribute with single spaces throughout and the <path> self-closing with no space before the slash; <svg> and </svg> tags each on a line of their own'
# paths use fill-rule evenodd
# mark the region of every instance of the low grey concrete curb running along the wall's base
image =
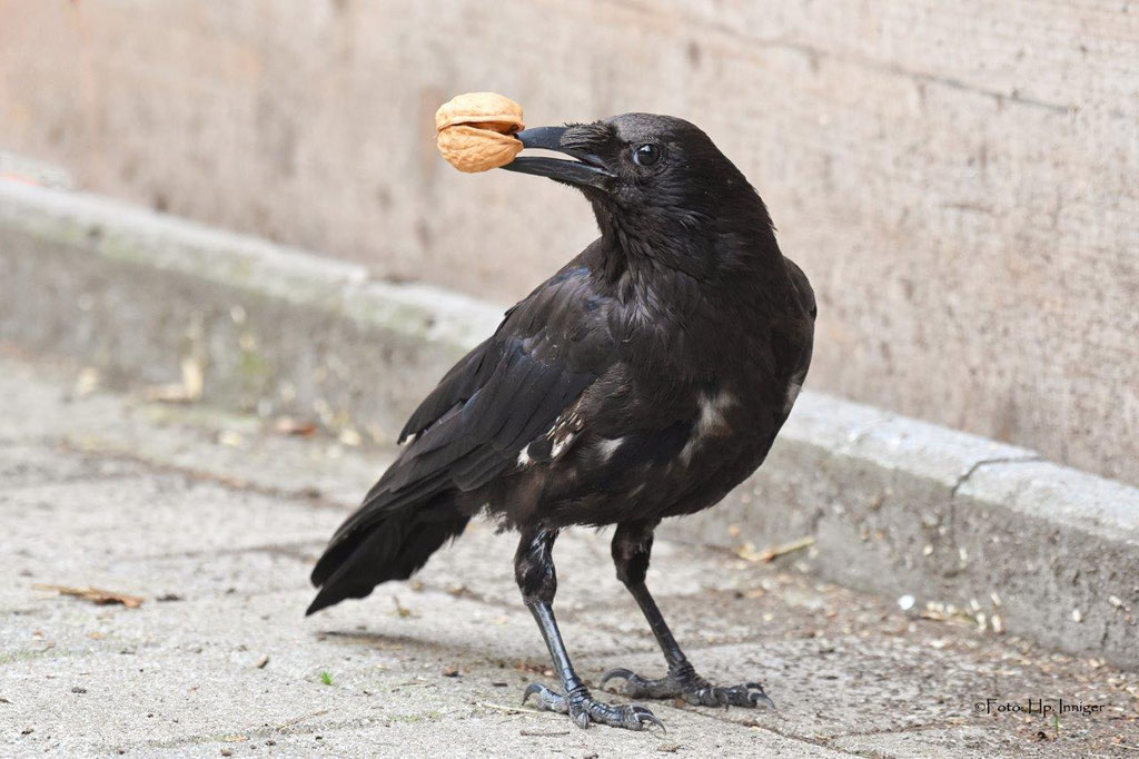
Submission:
<svg viewBox="0 0 1139 759">
<path fill-rule="evenodd" d="M 391 442 L 500 315 L 264 240 L 0 181 L 0 340 L 76 357 L 110 385 L 195 385 L 200 373 L 207 402 Z M 782 561 L 907 606 L 912 596 L 915 612 L 1139 667 L 1139 490 L 1031 450 L 804 392 L 761 472 L 665 532 L 732 548 L 811 536 Z"/>
</svg>

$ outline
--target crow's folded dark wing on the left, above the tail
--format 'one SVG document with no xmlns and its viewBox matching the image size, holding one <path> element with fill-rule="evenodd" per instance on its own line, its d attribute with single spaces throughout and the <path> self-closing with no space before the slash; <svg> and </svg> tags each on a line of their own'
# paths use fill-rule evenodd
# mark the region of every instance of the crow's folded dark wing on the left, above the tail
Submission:
<svg viewBox="0 0 1139 759">
<path fill-rule="evenodd" d="M 613 350 L 588 272 L 567 269 L 507 312 L 408 421 L 412 442 L 333 537 L 448 489 L 474 490 L 516 463 L 605 373 Z"/>
</svg>

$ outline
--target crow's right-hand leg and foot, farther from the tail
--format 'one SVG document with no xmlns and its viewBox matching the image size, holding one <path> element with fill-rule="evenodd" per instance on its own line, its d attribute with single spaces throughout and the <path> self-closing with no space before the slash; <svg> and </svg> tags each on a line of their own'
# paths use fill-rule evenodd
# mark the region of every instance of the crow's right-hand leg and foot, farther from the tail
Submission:
<svg viewBox="0 0 1139 759">
<path fill-rule="evenodd" d="M 677 645 L 672 630 L 664 621 L 656 601 L 645 587 L 649 554 L 653 550 L 653 530 L 656 523 L 622 523 L 613 536 L 613 563 L 620 579 L 645 613 L 653 635 L 661 644 L 669 674 L 659 679 L 647 679 L 628 669 L 611 669 L 601 677 L 601 687 L 611 678 L 625 680 L 625 694 L 632 699 L 683 699 L 704 707 L 775 707 L 759 683 L 731 687 L 712 685 L 696 674 L 685 652 Z"/>
</svg>

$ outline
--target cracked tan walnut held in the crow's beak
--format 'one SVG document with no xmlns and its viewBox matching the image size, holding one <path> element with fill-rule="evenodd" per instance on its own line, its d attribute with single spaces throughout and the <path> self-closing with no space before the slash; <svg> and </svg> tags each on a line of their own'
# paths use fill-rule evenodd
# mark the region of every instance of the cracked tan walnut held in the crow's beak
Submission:
<svg viewBox="0 0 1139 759">
<path fill-rule="evenodd" d="M 494 92 L 467 92 L 435 112 L 439 152 L 459 171 L 505 166 L 522 150 L 522 106 Z"/>
</svg>

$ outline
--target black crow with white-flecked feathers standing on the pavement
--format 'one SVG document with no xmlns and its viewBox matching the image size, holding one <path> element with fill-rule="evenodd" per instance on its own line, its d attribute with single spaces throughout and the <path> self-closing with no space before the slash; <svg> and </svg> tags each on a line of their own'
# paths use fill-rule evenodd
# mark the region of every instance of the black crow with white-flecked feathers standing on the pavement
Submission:
<svg viewBox="0 0 1139 759">
<path fill-rule="evenodd" d="M 506 312 L 404 426 L 407 442 L 312 572 L 308 613 L 402 580 L 485 511 L 518 530 L 515 578 L 581 727 L 659 724 L 593 700 L 554 619 L 558 531 L 615 524 L 613 561 L 667 675 L 618 669 L 634 699 L 770 704 L 696 674 L 645 586 L 653 531 L 719 501 L 764 459 L 811 361 L 814 295 L 744 176 L 695 125 L 632 113 L 519 132 L 510 171 L 577 187 L 601 236 Z"/>
</svg>

